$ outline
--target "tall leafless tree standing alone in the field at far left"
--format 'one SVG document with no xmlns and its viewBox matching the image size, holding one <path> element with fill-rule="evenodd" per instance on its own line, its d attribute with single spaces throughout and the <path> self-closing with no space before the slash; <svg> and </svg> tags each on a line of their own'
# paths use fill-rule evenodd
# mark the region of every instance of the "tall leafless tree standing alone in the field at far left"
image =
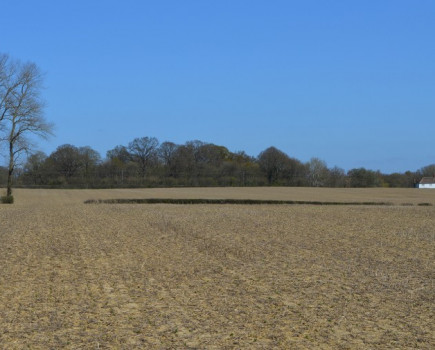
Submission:
<svg viewBox="0 0 435 350">
<path fill-rule="evenodd" d="M 34 63 L 22 64 L 1 59 L 1 118 L 9 150 L 7 193 L 12 195 L 12 178 L 21 154 L 29 152 L 33 144 L 30 135 L 47 137 L 53 126 L 43 116 L 44 103 L 40 92 L 42 75 Z"/>
</svg>

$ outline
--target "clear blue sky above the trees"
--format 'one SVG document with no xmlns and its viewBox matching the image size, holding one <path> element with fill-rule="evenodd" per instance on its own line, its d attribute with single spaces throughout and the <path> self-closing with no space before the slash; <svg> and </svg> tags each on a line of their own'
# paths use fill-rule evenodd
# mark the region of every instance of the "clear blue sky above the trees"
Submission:
<svg viewBox="0 0 435 350">
<path fill-rule="evenodd" d="M 0 27 L 0 52 L 46 73 L 46 153 L 154 136 L 435 163 L 434 0 L 2 0 Z"/>
</svg>

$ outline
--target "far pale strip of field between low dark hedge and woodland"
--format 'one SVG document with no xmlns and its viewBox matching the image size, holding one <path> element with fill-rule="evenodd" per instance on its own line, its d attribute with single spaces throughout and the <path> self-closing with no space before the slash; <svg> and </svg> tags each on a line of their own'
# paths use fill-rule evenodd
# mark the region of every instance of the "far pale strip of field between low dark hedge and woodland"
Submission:
<svg viewBox="0 0 435 350">
<path fill-rule="evenodd" d="M 112 190 L 17 189 L 16 204 L 41 205 L 82 203 L 88 199 L 118 198 L 209 198 L 272 199 L 320 202 L 391 202 L 397 205 L 430 203 L 435 191 L 415 188 L 307 188 L 307 187 L 206 187 L 206 188 L 123 188 Z"/>
</svg>

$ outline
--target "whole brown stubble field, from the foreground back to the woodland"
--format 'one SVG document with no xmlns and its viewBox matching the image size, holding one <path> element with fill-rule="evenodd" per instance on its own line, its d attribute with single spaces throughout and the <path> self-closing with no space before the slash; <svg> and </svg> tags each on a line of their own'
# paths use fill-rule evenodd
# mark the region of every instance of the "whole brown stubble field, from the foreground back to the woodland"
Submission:
<svg viewBox="0 0 435 350">
<path fill-rule="evenodd" d="M 433 190 L 14 196 L 0 205 L 1 349 L 435 348 Z M 84 204 L 117 198 L 391 205 Z"/>
</svg>

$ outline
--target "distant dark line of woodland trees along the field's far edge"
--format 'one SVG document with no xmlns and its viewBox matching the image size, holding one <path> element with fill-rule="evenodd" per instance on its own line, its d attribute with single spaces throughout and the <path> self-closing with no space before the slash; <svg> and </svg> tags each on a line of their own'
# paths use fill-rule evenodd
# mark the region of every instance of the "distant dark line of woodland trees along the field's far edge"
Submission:
<svg viewBox="0 0 435 350">
<path fill-rule="evenodd" d="M 37 152 L 15 172 L 23 187 L 111 188 L 177 186 L 413 187 L 433 176 L 435 164 L 417 171 L 382 174 L 365 168 L 345 172 L 318 158 L 303 163 L 269 147 L 257 157 L 202 141 L 179 145 L 141 137 L 109 150 L 65 144 L 50 155 Z M 0 182 L 7 169 L 0 169 Z"/>
</svg>

